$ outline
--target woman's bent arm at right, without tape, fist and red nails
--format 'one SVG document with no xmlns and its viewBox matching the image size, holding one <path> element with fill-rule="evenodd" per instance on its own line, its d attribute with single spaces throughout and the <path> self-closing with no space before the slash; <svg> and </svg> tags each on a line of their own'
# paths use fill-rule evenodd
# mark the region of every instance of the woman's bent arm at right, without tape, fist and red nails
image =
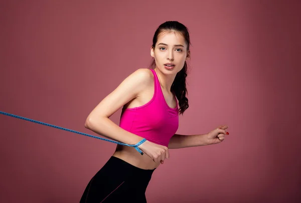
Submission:
<svg viewBox="0 0 301 203">
<path fill-rule="evenodd" d="M 228 125 L 220 125 L 216 129 L 206 133 L 206 134 L 194 134 L 194 135 L 182 135 L 175 134 L 170 139 L 168 148 L 185 148 L 192 146 L 203 146 L 208 144 L 217 144 L 225 139 L 225 134 L 227 132 Z"/>
</svg>

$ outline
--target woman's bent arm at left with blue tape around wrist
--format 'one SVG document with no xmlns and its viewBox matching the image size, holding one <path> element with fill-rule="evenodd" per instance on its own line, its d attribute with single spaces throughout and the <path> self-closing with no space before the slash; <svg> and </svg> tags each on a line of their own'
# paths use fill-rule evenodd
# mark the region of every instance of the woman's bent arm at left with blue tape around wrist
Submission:
<svg viewBox="0 0 301 203">
<path fill-rule="evenodd" d="M 140 68 L 126 77 L 116 89 L 101 100 L 90 112 L 86 119 L 85 127 L 97 134 L 126 144 L 136 144 L 142 140 L 143 137 L 122 129 L 111 121 L 109 117 L 128 101 L 139 96 L 143 89 L 154 83 L 154 78 L 151 74 L 152 72 L 148 69 Z M 138 147 L 155 162 L 169 158 L 169 151 L 166 146 L 146 140 Z"/>
</svg>

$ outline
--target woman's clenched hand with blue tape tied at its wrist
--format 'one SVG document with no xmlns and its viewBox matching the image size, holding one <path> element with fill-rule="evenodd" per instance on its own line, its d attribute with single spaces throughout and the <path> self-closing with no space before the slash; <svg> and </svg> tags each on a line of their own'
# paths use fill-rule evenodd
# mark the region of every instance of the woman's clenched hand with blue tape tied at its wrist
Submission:
<svg viewBox="0 0 301 203">
<path fill-rule="evenodd" d="M 147 154 L 156 163 L 164 163 L 165 158 L 169 158 L 169 151 L 167 146 L 146 140 L 138 147 L 143 151 L 143 153 Z"/>
</svg>

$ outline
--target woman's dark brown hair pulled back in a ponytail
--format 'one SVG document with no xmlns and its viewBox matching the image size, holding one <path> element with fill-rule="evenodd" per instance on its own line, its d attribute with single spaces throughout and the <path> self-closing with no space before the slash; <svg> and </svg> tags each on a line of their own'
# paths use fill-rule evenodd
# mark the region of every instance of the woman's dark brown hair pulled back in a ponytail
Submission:
<svg viewBox="0 0 301 203">
<path fill-rule="evenodd" d="M 153 45 L 152 47 L 155 49 L 155 45 L 158 41 L 159 35 L 164 31 L 176 31 L 181 33 L 187 44 L 187 51 L 190 47 L 190 36 L 188 32 L 188 28 L 178 22 L 178 21 L 166 21 L 162 23 L 156 30 L 153 37 Z M 154 69 L 156 67 L 155 58 L 153 58 L 149 68 Z M 187 63 L 185 61 L 183 68 L 177 73 L 175 80 L 171 86 L 171 91 L 176 94 L 176 97 L 179 100 L 179 113 L 183 115 L 184 111 L 189 107 L 188 98 L 186 97 L 187 88 L 186 88 L 186 77 L 187 77 Z"/>
</svg>

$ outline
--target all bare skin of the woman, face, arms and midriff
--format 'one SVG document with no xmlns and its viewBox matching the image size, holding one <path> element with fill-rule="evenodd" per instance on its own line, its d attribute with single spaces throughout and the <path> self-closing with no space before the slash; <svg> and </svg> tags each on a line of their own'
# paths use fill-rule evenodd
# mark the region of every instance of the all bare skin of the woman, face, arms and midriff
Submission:
<svg viewBox="0 0 301 203">
<path fill-rule="evenodd" d="M 182 46 L 179 46 L 179 44 Z M 155 48 L 150 48 L 150 55 L 155 58 L 155 71 L 159 77 L 166 102 L 170 107 L 176 107 L 177 100 L 170 89 L 177 72 L 183 68 L 185 60 L 190 58 L 190 50 L 187 50 L 185 38 L 178 32 L 163 32 L 158 38 Z M 164 67 L 167 62 L 172 62 L 176 66 L 169 70 Z M 137 69 L 90 112 L 85 127 L 109 139 L 127 144 L 136 144 L 143 137 L 122 129 L 112 122 L 109 117 L 121 107 L 132 108 L 147 103 L 154 95 L 154 88 L 153 73 L 147 68 Z M 175 134 L 171 138 L 168 147 L 146 140 L 139 145 L 139 148 L 144 152 L 143 155 L 133 147 L 117 144 L 113 156 L 142 169 L 153 169 L 170 157 L 169 148 L 220 143 L 225 138 L 227 128 L 227 125 L 220 125 L 206 134 L 190 136 Z"/>
</svg>

